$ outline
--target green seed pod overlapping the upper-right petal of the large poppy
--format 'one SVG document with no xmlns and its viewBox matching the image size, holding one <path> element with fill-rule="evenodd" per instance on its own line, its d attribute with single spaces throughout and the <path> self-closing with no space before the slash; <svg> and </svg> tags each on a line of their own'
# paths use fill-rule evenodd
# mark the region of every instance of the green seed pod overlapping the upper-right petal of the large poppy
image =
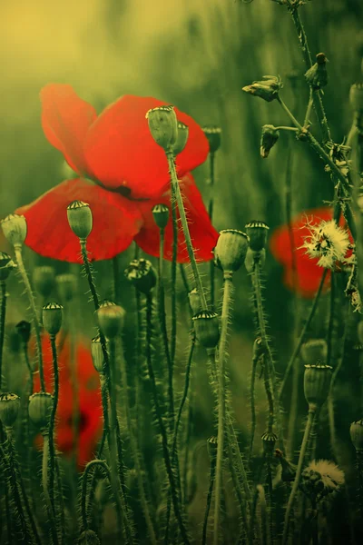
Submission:
<svg viewBox="0 0 363 545">
<path fill-rule="evenodd" d="M 146 114 L 152 138 L 165 152 L 171 152 L 178 135 L 178 120 L 174 106 L 152 108 Z"/>
</svg>

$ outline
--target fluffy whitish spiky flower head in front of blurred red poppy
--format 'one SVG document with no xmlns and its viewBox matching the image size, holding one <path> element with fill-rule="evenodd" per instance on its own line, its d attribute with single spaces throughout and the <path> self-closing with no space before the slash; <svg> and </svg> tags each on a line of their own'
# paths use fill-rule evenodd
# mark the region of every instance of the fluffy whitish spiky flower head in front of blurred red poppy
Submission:
<svg viewBox="0 0 363 545">
<path fill-rule="evenodd" d="M 318 264 L 325 269 L 333 269 L 335 263 L 345 260 L 349 248 L 348 232 L 339 227 L 334 220 L 322 221 L 318 225 L 307 223 L 309 235 L 300 248 L 305 248 L 311 258 L 318 258 Z"/>
</svg>

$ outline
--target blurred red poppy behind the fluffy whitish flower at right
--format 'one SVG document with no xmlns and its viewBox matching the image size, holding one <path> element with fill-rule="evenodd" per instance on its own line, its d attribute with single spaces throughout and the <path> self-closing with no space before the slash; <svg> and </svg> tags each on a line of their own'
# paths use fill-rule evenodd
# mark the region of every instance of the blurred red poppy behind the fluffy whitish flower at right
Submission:
<svg viewBox="0 0 363 545">
<path fill-rule="evenodd" d="M 306 237 L 309 237 L 310 225 L 317 225 L 322 221 L 328 222 L 333 218 L 333 211 L 329 207 L 321 207 L 299 213 L 292 220 L 293 246 L 295 248 L 296 286 L 294 286 L 293 257 L 289 238 L 288 225 L 282 225 L 270 238 L 270 251 L 275 259 L 284 265 L 283 282 L 290 289 L 296 287 L 297 292 L 303 297 L 314 297 L 319 288 L 323 269 L 318 265 L 319 258 L 311 258 L 305 248 L 301 248 Z M 309 220 L 309 224 L 308 224 Z M 341 217 L 339 225 L 344 226 L 344 218 Z M 326 286 L 329 285 L 329 274 Z"/>
</svg>

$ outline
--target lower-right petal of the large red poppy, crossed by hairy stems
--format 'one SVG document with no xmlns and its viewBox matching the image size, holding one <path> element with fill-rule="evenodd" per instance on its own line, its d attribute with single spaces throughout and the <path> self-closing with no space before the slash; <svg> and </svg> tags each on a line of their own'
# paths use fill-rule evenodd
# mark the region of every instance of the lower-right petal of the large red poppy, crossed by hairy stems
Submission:
<svg viewBox="0 0 363 545">
<path fill-rule="evenodd" d="M 218 233 L 211 224 L 211 220 L 201 199 L 201 193 L 199 192 L 191 173 L 187 173 L 182 177 L 181 189 L 196 259 L 202 262 L 210 261 L 213 258 L 212 249 L 217 243 Z M 155 199 L 148 203 L 139 203 L 144 223 L 140 233 L 135 236 L 135 242 L 139 244 L 144 252 L 159 256 L 160 235 L 159 228 L 155 225 L 152 218 L 152 207 L 155 204 L 167 204 L 170 210 L 170 219 L 165 228 L 164 257 L 171 261 L 173 237 L 170 195 L 171 192 L 168 191 L 161 199 Z M 178 231 L 178 262 L 189 262 L 181 223 L 179 223 Z"/>
</svg>

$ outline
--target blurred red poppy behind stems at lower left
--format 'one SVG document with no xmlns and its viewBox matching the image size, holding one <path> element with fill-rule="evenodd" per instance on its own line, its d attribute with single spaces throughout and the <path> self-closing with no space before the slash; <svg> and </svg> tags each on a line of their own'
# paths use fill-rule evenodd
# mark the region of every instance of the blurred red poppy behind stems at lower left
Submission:
<svg viewBox="0 0 363 545">
<path fill-rule="evenodd" d="M 60 336 L 61 337 L 61 336 Z M 49 336 L 42 340 L 44 380 L 46 391 L 54 391 L 54 372 Z M 55 442 L 57 449 L 71 455 L 74 450 L 74 398 L 77 399 L 78 437 L 77 464 L 82 467 L 93 459 L 94 451 L 103 430 L 103 411 L 98 373 L 94 370 L 89 342 L 76 340 L 74 362 L 76 390 L 71 371 L 71 339 L 66 335 L 58 343 L 59 400 L 56 412 Z M 40 390 L 39 375 L 34 381 L 34 391 Z"/>
</svg>

